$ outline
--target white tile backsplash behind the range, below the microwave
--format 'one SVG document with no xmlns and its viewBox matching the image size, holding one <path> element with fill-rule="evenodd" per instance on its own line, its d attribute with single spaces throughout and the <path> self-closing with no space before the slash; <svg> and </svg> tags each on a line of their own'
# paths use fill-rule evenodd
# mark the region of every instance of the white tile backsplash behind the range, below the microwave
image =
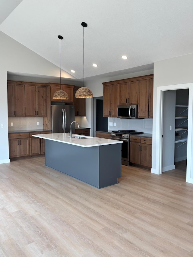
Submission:
<svg viewBox="0 0 193 257">
<path fill-rule="evenodd" d="M 120 119 L 108 118 L 108 124 L 112 122 L 113 126 L 108 125 L 109 130 L 136 130 L 152 134 L 153 119 Z M 114 126 L 116 123 L 116 126 Z"/>
</svg>

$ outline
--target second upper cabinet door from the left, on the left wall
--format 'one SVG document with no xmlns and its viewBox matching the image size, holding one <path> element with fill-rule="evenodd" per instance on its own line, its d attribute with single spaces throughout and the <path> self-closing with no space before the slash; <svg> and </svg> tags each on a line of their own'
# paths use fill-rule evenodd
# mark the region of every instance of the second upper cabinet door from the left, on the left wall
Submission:
<svg viewBox="0 0 193 257">
<path fill-rule="evenodd" d="M 25 117 L 25 86 L 14 85 L 15 117 Z"/>
</svg>

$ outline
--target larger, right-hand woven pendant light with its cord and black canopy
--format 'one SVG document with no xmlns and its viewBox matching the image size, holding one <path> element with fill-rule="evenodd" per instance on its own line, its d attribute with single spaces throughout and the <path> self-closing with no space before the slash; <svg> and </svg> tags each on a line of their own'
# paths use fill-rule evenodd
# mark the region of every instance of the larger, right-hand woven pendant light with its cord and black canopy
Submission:
<svg viewBox="0 0 193 257">
<path fill-rule="evenodd" d="M 85 22 L 82 22 L 81 25 L 83 27 L 83 87 L 80 87 L 76 91 L 75 97 L 76 98 L 90 98 L 90 97 L 93 97 L 93 93 L 91 92 L 91 90 L 89 88 L 84 86 L 84 28 L 87 27 L 87 24 Z"/>
</svg>

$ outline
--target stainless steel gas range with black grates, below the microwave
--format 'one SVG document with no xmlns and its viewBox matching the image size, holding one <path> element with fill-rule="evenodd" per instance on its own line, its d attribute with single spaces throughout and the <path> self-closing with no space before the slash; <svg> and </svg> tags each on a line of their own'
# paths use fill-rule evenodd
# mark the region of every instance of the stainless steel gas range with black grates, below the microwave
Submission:
<svg viewBox="0 0 193 257">
<path fill-rule="evenodd" d="M 111 132 L 110 139 L 121 140 L 122 152 L 121 152 L 121 163 L 123 165 L 130 166 L 130 135 L 143 134 L 144 132 L 138 132 L 135 130 L 117 130 Z"/>
</svg>

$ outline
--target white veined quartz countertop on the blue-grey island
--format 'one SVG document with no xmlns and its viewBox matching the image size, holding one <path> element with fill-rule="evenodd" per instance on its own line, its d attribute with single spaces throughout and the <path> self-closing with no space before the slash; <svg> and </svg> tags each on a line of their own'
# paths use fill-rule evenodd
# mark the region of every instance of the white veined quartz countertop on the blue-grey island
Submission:
<svg viewBox="0 0 193 257">
<path fill-rule="evenodd" d="M 72 136 L 75 136 L 75 135 L 76 134 L 72 134 Z M 76 136 L 87 137 L 87 138 L 86 139 L 70 138 L 68 133 L 38 134 L 33 136 L 56 141 L 56 142 L 61 142 L 65 144 L 82 146 L 82 147 L 104 146 L 104 145 L 123 143 L 123 141 L 119 141 L 119 140 L 112 140 L 112 139 L 92 137 L 92 136 L 82 136 L 82 135 L 76 135 Z"/>
</svg>

